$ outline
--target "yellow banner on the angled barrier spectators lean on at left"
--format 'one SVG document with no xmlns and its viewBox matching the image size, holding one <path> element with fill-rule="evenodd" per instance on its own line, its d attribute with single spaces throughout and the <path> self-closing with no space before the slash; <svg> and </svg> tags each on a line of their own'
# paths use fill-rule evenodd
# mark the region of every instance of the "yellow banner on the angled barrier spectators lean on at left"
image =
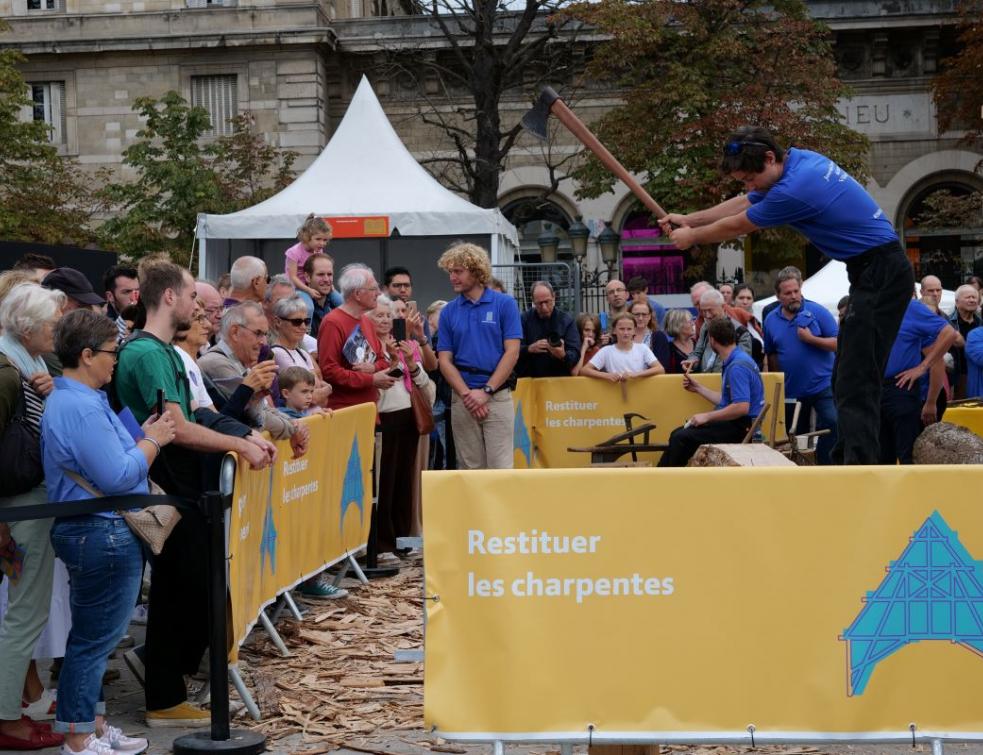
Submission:
<svg viewBox="0 0 983 755">
<path fill-rule="evenodd" d="M 374 404 L 360 404 L 310 417 L 301 458 L 280 441 L 267 469 L 237 464 L 229 519 L 233 660 L 264 606 L 365 547 L 375 416 Z"/>
</svg>

